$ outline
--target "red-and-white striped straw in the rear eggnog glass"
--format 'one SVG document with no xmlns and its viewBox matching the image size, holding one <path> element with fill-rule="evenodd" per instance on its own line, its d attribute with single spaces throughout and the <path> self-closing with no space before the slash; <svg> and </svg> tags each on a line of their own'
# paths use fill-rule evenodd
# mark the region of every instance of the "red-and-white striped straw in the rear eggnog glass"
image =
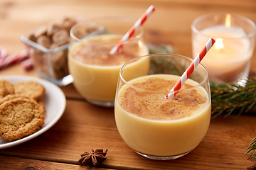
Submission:
<svg viewBox="0 0 256 170">
<path fill-rule="evenodd" d="M 112 50 L 110 51 L 110 54 L 113 55 L 115 52 L 119 52 L 120 48 L 122 48 L 122 42 L 129 40 L 132 35 L 134 35 L 135 31 L 138 30 L 140 26 L 143 25 L 143 23 L 146 21 L 147 18 L 155 11 L 156 8 L 154 6 L 149 6 L 149 8 L 146 10 L 146 12 L 143 13 L 143 15 L 139 18 L 139 20 L 134 23 L 132 28 L 128 30 L 128 32 L 122 37 L 122 39 L 119 41 L 119 44 L 115 45 Z"/>
</svg>

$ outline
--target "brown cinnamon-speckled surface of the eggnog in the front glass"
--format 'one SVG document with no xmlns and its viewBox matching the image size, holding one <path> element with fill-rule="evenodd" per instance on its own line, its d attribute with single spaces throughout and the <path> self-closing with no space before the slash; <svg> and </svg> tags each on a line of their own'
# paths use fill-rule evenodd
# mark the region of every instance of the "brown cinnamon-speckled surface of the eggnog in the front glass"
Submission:
<svg viewBox="0 0 256 170">
<path fill-rule="evenodd" d="M 169 93 L 172 86 L 176 84 L 174 80 L 151 77 L 144 82 L 133 84 L 139 88 L 162 91 L 161 93 L 149 93 L 127 88 L 120 98 L 120 106 L 125 111 L 138 115 L 142 118 L 152 120 L 176 120 L 188 117 L 206 103 L 206 96 L 198 94 L 196 89 L 179 92 L 175 98 L 166 100 L 164 96 Z M 184 84 L 182 89 L 191 87 Z"/>
</svg>

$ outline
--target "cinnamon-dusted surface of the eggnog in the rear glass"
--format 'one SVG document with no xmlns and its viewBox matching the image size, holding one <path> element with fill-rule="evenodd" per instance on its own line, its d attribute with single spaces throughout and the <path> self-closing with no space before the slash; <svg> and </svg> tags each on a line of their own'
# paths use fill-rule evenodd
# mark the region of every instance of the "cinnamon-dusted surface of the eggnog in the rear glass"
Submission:
<svg viewBox="0 0 256 170">
<path fill-rule="evenodd" d="M 117 66 L 122 65 L 129 60 L 139 56 L 139 50 L 142 50 L 137 41 L 126 43 L 122 47 L 122 52 L 110 55 L 110 50 L 121 38 L 117 35 L 98 36 L 95 39 L 88 40 L 84 44 L 78 45 L 72 51 L 75 60 L 84 64 L 97 66 Z"/>
</svg>

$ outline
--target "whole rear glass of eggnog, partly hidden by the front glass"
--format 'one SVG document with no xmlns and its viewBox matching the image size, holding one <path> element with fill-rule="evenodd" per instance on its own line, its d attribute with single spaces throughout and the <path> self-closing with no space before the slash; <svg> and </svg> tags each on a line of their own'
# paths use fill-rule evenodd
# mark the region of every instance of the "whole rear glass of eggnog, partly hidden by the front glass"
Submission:
<svg viewBox="0 0 256 170">
<path fill-rule="evenodd" d="M 136 30 L 132 38 L 122 42 L 118 52 L 111 54 L 112 48 L 119 44 L 136 21 L 119 17 L 93 18 L 88 21 L 95 24 L 97 31 L 93 34 L 82 36 L 87 23 L 78 23 L 70 30 L 72 40 L 68 69 L 73 76 L 75 89 L 88 102 L 113 107 L 122 65 L 133 58 L 149 54 L 143 40 L 143 28 Z M 137 67 L 144 67 L 145 62 L 137 62 Z"/>
</svg>

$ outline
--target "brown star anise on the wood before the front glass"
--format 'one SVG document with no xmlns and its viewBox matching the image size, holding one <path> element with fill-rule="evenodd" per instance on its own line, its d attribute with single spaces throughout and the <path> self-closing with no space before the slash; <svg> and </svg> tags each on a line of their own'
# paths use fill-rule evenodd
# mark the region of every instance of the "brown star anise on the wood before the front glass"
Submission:
<svg viewBox="0 0 256 170">
<path fill-rule="evenodd" d="M 103 149 L 96 149 L 95 151 L 91 149 L 90 152 L 85 152 L 81 154 L 81 158 L 78 160 L 78 164 L 83 166 L 97 166 L 101 162 L 104 162 L 107 157 L 107 149 L 103 152 Z"/>
</svg>

